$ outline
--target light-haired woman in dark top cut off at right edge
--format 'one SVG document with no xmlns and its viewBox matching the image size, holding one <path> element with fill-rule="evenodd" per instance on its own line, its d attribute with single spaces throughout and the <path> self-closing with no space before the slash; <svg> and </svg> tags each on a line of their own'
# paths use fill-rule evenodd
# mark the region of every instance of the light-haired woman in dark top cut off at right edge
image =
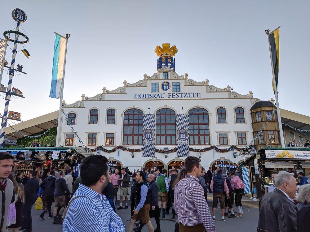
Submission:
<svg viewBox="0 0 310 232">
<path fill-rule="evenodd" d="M 298 232 L 309 231 L 310 228 L 310 184 L 304 184 L 299 187 L 296 205 L 298 208 L 297 213 L 297 228 Z"/>
</svg>

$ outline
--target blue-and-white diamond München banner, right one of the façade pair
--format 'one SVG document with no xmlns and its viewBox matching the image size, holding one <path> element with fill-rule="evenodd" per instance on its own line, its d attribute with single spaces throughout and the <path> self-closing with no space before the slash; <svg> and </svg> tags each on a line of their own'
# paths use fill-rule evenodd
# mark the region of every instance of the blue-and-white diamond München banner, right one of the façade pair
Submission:
<svg viewBox="0 0 310 232">
<path fill-rule="evenodd" d="M 177 157 L 189 156 L 188 114 L 176 114 Z"/>
</svg>

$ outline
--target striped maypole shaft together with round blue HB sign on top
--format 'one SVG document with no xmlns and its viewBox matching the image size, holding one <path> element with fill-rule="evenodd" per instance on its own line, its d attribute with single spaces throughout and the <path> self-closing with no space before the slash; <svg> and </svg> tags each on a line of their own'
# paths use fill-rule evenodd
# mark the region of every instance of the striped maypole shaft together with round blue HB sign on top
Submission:
<svg viewBox="0 0 310 232">
<path fill-rule="evenodd" d="M 17 49 L 17 43 L 18 43 L 18 31 L 19 31 L 20 23 L 24 23 L 27 20 L 27 16 L 25 12 L 21 9 L 14 9 L 12 11 L 12 17 L 17 22 L 17 24 L 16 24 L 14 47 L 12 51 L 13 53 L 12 61 L 11 61 L 10 72 L 9 72 L 9 83 L 7 85 L 7 94 L 5 98 L 4 113 L 3 113 L 2 123 L 1 123 L 0 148 L 3 147 L 5 127 L 7 126 L 7 112 L 9 109 L 9 102 L 11 100 L 11 87 L 12 87 L 12 79 L 14 75 L 15 56 L 17 53 L 16 49 Z"/>
</svg>

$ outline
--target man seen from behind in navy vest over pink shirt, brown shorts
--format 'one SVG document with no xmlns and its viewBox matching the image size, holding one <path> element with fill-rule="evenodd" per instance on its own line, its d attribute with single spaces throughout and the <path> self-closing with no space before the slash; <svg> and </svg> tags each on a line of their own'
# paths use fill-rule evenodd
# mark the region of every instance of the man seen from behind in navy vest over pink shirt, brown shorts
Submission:
<svg viewBox="0 0 310 232">
<path fill-rule="evenodd" d="M 222 170 L 216 170 L 217 174 L 212 178 L 210 189 L 213 192 L 213 217 L 212 220 L 215 221 L 215 210 L 216 205 L 219 200 L 219 204 L 222 209 L 222 221 L 225 221 L 224 213 L 225 213 L 225 193 L 227 199 L 229 198 L 229 189 L 227 183 L 225 181 L 224 176 L 222 175 Z"/>
</svg>

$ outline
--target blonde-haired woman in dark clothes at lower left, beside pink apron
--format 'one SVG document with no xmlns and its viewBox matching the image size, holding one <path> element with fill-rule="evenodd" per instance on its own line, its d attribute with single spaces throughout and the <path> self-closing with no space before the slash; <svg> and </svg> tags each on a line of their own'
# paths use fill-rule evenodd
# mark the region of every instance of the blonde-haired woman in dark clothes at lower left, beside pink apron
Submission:
<svg viewBox="0 0 310 232">
<path fill-rule="evenodd" d="M 18 200 L 15 202 L 16 220 L 15 224 L 9 226 L 9 230 L 12 230 L 13 232 L 20 231 L 18 228 L 23 225 L 23 209 L 25 203 L 24 185 L 17 184 L 17 194 Z"/>
</svg>

